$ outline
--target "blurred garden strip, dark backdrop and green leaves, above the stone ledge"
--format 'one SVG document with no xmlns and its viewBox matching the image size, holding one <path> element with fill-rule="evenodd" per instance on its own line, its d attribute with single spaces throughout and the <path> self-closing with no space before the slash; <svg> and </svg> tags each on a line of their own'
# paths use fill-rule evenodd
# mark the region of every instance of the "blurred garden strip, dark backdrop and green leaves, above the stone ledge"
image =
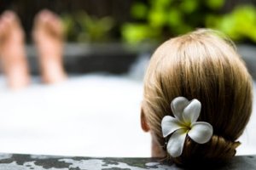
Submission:
<svg viewBox="0 0 256 170">
<path fill-rule="evenodd" d="M 20 16 L 28 42 L 35 14 L 49 8 L 66 26 L 68 42 L 162 42 L 211 27 L 237 42 L 256 42 L 255 0 L 2 0 Z"/>
</svg>

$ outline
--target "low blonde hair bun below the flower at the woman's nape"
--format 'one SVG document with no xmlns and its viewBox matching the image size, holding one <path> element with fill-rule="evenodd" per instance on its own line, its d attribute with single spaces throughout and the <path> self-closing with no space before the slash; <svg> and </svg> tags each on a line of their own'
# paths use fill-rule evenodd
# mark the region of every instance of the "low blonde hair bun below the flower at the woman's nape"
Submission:
<svg viewBox="0 0 256 170">
<path fill-rule="evenodd" d="M 192 139 L 185 140 L 183 154 L 173 161 L 183 165 L 200 165 L 202 162 L 219 164 L 236 155 L 240 142 L 233 142 L 221 136 L 213 135 L 206 144 L 197 144 Z"/>
</svg>

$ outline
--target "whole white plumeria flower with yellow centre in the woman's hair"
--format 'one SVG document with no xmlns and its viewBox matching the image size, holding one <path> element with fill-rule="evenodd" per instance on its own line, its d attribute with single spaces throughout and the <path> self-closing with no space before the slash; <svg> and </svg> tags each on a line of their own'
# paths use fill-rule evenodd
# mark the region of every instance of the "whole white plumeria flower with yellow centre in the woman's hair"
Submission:
<svg viewBox="0 0 256 170">
<path fill-rule="evenodd" d="M 172 100 L 171 108 L 175 117 L 164 116 L 161 122 L 163 136 L 172 134 L 166 147 L 170 156 L 181 156 L 187 135 L 198 144 L 205 144 L 212 138 L 212 125 L 196 122 L 201 112 L 199 100 L 177 97 Z"/>
</svg>

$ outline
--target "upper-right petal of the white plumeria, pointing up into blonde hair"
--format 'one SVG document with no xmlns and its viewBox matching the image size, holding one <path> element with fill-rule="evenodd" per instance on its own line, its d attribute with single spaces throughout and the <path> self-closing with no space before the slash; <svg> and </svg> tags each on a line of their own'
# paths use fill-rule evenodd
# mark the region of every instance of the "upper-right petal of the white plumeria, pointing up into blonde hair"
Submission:
<svg viewBox="0 0 256 170">
<path fill-rule="evenodd" d="M 201 112 L 201 102 L 192 99 L 189 105 L 183 110 L 183 118 L 186 123 L 196 122 Z"/>
</svg>

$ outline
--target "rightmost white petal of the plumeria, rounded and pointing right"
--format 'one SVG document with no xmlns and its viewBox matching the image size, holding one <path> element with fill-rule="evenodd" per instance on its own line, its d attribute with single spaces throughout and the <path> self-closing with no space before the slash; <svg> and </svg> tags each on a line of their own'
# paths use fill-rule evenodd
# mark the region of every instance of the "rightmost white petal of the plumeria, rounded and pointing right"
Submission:
<svg viewBox="0 0 256 170">
<path fill-rule="evenodd" d="M 189 137 L 198 144 L 205 144 L 212 138 L 212 125 L 207 122 L 195 122 L 189 130 Z"/>
</svg>

